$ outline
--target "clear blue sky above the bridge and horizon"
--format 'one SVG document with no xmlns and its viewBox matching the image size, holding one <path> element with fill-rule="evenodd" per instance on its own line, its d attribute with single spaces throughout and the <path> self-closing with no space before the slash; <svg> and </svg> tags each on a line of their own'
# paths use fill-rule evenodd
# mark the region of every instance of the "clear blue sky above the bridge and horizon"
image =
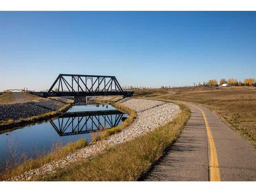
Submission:
<svg viewBox="0 0 256 192">
<path fill-rule="evenodd" d="M 59 73 L 121 86 L 256 78 L 256 12 L 0 12 L 0 90 Z"/>
</svg>

